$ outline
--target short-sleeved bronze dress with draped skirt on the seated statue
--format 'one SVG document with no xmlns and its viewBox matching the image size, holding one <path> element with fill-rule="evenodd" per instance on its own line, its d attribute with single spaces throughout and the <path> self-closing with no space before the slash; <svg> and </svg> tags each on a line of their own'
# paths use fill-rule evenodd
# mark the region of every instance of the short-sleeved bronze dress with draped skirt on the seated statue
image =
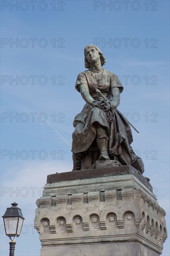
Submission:
<svg viewBox="0 0 170 256">
<path fill-rule="evenodd" d="M 101 71 L 88 69 L 80 73 L 75 85 L 78 92 L 80 92 L 80 85 L 84 83 L 88 85 L 89 93 L 95 100 L 103 100 L 96 93 L 96 88 L 109 100 L 112 99 L 112 88 L 118 87 L 120 93 L 123 91 L 118 77 L 105 69 Z M 114 108 L 114 115 L 114 121 L 110 122 L 104 110 L 98 107 L 93 108 L 86 103 L 81 113 L 75 116 L 73 122 L 75 131 L 72 134 L 72 152 L 86 152 L 88 155 L 96 138 L 96 123 L 99 123 L 109 135 L 108 153 L 110 158 L 118 160 L 122 165 L 131 165 L 130 144 L 133 141 L 131 128 L 117 108 Z M 95 160 L 98 159 L 92 159 L 91 163 L 94 164 Z"/>
</svg>

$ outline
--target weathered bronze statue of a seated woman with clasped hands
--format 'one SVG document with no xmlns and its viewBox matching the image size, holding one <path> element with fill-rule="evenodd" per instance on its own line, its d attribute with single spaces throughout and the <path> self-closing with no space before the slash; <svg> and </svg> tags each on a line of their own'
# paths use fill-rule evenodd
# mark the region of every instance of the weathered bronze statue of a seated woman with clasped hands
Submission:
<svg viewBox="0 0 170 256">
<path fill-rule="evenodd" d="M 92 169 L 97 161 L 132 165 L 142 174 L 144 164 L 131 148 L 131 128 L 117 107 L 123 86 L 115 74 L 105 70 L 105 56 L 95 45 L 85 47 L 84 72 L 75 88 L 86 104 L 75 116 L 72 134 L 73 171 Z"/>
</svg>

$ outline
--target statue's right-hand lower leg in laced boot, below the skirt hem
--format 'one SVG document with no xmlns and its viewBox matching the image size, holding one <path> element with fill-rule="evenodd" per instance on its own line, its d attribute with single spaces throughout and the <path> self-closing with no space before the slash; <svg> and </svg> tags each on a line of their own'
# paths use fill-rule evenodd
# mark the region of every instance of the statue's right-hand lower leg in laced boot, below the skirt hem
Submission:
<svg viewBox="0 0 170 256">
<path fill-rule="evenodd" d="M 100 156 L 98 160 L 108 160 L 110 159 L 108 155 L 108 140 L 109 136 L 107 134 L 107 131 L 105 130 L 104 127 L 101 125 L 96 126 L 96 137 L 97 137 L 97 144 L 98 148 L 100 150 Z"/>
</svg>

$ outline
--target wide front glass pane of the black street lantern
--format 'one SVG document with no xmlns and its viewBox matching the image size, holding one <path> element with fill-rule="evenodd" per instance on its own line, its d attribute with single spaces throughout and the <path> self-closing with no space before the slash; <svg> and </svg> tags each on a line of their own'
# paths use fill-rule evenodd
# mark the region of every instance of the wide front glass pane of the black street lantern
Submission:
<svg viewBox="0 0 170 256">
<path fill-rule="evenodd" d="M 4 218 L 4 223 L 5 223 L 7 236 L 16 236 L 18 217 Z"/>
</svg>

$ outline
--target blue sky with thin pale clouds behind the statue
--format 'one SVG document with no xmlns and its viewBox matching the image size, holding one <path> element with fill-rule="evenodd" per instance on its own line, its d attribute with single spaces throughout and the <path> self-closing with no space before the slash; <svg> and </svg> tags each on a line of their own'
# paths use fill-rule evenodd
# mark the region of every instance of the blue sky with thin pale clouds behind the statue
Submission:
<svg viewBox="0 0 170 256">
<path fill-rule="evenodd" d="M 34 10 L 29 0 L 16 10 L 16 2 L 1 0 L 0 212 L 17 202 L 26 219 L 15 255 L 39 255 L 35 202 L 48 174 L 72 170 L 72 122 L 84 105 L 74 86 L 85 70 L 84 47 L 94 43 L 106 57 L 104 68 L 122 81 L 118 109 L 140 131 L 132 131 L 132 147 L 169 230 L 169 1 L 130 1 L 126 8 L 124 1 L 106 7 L 109 1 L 38 0 Z M 2 229 L 1 222 L 6 256 Z"/>
</svg>

